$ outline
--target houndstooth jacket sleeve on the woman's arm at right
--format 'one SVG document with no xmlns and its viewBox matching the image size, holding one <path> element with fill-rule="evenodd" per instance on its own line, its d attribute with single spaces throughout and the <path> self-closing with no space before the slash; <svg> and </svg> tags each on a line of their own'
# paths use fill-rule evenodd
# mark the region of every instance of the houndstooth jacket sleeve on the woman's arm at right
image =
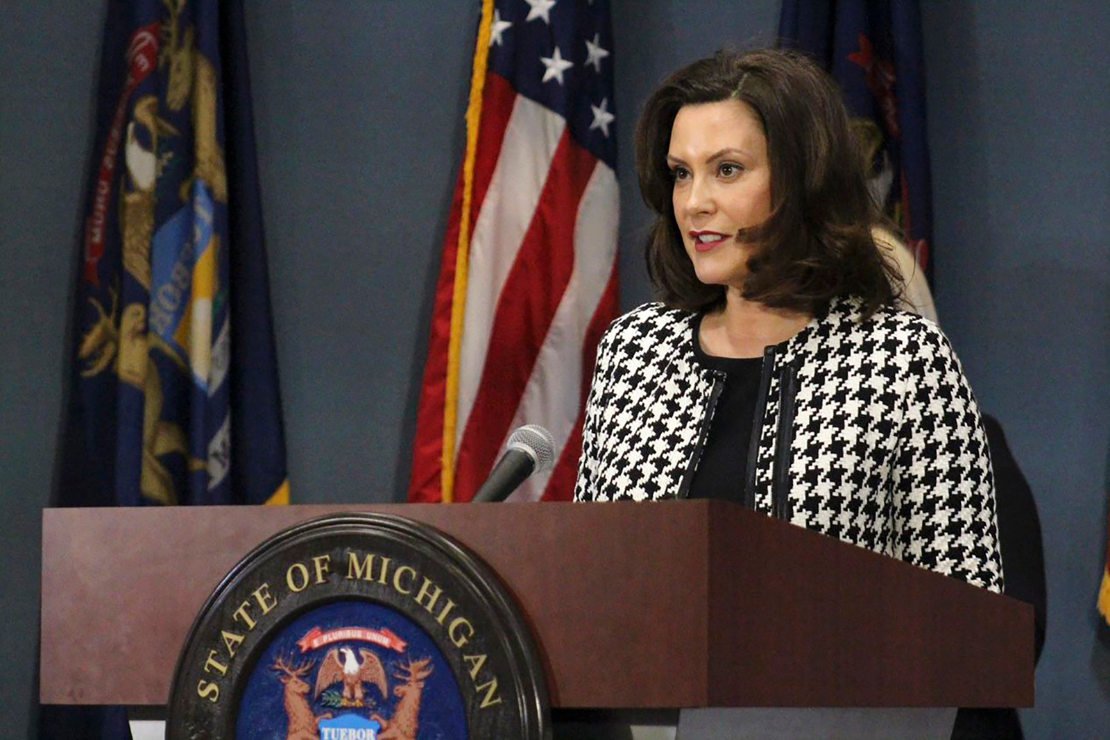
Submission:
<svg viewBox="0 0 1110 740">
<path fill-rule="evenodd" d="M 929 322 L 915 328 L 892 460 L 892 554 L 1001 591 L 995 483 L 979 406 L 947 337 Z"/>
</svg>

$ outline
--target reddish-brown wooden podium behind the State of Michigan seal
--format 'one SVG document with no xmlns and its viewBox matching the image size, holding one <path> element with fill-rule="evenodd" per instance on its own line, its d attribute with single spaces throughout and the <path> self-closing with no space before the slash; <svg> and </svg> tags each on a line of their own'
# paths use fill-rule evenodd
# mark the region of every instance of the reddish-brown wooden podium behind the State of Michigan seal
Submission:
<svg viewBox="0 0 1110 740">
<path fill-rule="evenodd" d="M 498 572 L 553 708 L 1032 706 L 1032 607 L 718 501 L 47 509 L 41 701 L 164 704 L 224 574 L 352 510 Z"/>
</svg>

